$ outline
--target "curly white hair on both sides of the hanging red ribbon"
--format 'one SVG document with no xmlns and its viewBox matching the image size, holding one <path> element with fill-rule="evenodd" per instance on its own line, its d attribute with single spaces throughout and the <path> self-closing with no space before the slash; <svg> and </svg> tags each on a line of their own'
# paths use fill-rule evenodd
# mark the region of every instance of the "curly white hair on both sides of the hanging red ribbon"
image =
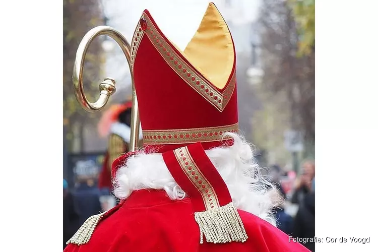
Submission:
<svg viewBox="0 0 378 252">
<path fill-rule="evenodd" d="M 240 136 L 227 133 L 234 138 L 231 147 L 207 150 L 206 154 L 225 181 L 236 208 L 275 225 L 271 209 L 274 207 L 268 188 L 274 188 L 259 171 L 253 150 Z M 185 193 L 175 182 L 161 154 L 140 153 L 130 157 L 125 166 L 118 169 L 114 183 L 114 194 L 126 199 L 133 191 L 141 189 L 164 190 L 172 200 L 185 198 Z"/>
</svg>

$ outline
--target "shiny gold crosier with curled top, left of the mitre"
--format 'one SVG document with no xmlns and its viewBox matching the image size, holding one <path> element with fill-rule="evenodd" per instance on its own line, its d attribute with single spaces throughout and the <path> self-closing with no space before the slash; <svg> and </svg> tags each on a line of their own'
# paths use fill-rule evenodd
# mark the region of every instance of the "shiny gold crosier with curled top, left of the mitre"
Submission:
<svg viewBox="0 0 378 252">
<path fill-rule="evenodd" d="M 97 26 L 91 29 L 79 44 L 78 50 L 76 52 L 74 71 L 72 74 L 72 82 L 75 88 L 75 96 L 82 107 L 88 112 L 96 112 L 101 110 L 109 100 L 110 95 L 115 92 L 115 81 L 111 78 L 105 78 L 105 80 L 100 84 L 100 97 L 96 102 L 91 103 L 88 101 L 84 93 L 83 87 L 83 68 L 84 60 L 87 50 L 91 42 L 100 35 L 107 35 L 117 42 L 121 47 L 123 54 L 129 62 L 129 68 L 131 73 L 131 84 L 133 93 L 133 107 L 131 113 L 131 137 L 130 137 L 130 150 L 134 151 L 138 147 L 139 139 L 139 111 L 138 111 L 138 100 L 137 93 L 135 91 L 134 85 L 134 75 L 131 64 L 131 47 L 129 42 L 120 34 L 118 31 L 114 30 L 109 26 Z"/>
</svg>

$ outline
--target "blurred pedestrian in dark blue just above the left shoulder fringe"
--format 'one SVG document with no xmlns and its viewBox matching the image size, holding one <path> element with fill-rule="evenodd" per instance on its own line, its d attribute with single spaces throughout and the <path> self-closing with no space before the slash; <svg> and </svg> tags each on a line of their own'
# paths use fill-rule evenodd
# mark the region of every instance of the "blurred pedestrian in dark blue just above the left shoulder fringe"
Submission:
<svg viewBox="0 0 378 252">
<path fill-rule="evenodd" d="M 102 212 L 101 193 L 93 178 L 79 176 L 73 196 L 75 205 L 80 211 L 80 224 L 83 224 L 90 216 Z"/>
</svg>

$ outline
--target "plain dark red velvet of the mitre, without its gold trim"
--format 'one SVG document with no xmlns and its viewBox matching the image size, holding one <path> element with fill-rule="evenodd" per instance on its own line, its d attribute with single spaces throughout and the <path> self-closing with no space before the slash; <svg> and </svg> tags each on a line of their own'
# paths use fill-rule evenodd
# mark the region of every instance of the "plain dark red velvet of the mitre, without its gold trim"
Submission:
<svg viewBox="0 0 378 252">
<path fill-rule="evenodd" d="M 175 49 L 160 31 L 150 13 L 145 10 L 143 15 L 149 17 L 157 32 L 170 45 L 172 50 L 180 56 L 181 60 L 189 64 L 185 57 Z M 193 69 L 195 68 L 193 67 Z M 209 128 L 238 122 L 236 86 L 227 106 L 222 112 L 219 111 L 168 65 L 147 35 L 144 35 L 139 43 L 133 72 L 143 130 Z M 220 90 L 215 86 L 214 88 L 219 91 L 225 89 Z M 221 144 L 221 141 L 214 141 L 205 144 L 204 147 L 209 149 Z M 180 146 L 183 145 L 166 144 L 155 146 L 150 144 L 146 145 L 145 148 L 147 150 L 153 148 L 154 151 L 165 152 Z"/>
</svg>

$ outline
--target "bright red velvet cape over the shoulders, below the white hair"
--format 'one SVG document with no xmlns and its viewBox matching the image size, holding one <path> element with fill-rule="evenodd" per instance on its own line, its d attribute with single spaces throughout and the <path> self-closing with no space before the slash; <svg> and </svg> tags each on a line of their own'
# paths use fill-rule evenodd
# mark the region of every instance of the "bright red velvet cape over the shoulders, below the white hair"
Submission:
<svg viewBox="0 0 378 252">
<path fill-rule="evenodd" d="M 140 190 L 99 222 L 89 243 L 69 244 L 65 252 L 301 252 L 309 251 L 257 216 L 238 211 L 246 242 L 200 244 L 191 200 L 172 201 L 164 191 Z"/>
</svg>

